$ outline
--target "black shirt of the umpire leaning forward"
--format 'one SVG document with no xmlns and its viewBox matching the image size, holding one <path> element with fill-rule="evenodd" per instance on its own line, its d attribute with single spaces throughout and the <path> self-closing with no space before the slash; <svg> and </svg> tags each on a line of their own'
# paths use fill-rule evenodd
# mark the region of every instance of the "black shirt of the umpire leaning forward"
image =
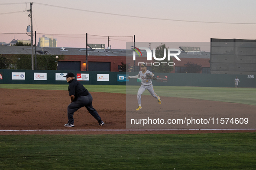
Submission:
<svg viewBox="0 0 256 170">
<path fill-rule="evenodd" d="M 87 96 L 89 94 L 88 90 L 84 88 L 84 86 L 80 82 L 78 82 L 76 79 L 72 79 L 68 83 L 69 83 L 68 93 L 69 93 L 69 96 L 71 95 L 75 96 L 74 101 L 76 101 L 76 99 L 81 96 Z"/>
</svg>

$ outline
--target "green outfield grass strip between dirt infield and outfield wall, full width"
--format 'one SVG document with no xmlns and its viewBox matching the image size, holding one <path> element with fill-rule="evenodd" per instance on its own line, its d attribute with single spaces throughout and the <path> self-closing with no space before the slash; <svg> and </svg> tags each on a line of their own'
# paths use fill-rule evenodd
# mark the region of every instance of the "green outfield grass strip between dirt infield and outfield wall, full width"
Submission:
<svg viewBox="0 0 256 170">
<path fill-rule="evenodd" d="M 92 92 L 137 94 L 140 86 L 84 85 L 84 87 Z M 68 90 L 68 85 L 0 84 L 0 88 Z M 194 98 L 256 105 L 256 88 L 154 86 L 154 90 L 160 97 Z M 150 95 L 148 91 L 143 94 Z"/>
</svg>

